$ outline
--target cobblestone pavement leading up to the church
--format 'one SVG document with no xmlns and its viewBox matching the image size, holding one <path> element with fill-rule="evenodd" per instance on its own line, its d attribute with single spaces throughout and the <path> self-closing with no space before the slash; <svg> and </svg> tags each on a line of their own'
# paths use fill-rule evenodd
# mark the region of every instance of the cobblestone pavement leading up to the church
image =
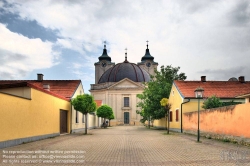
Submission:
<svg viewBox="0 0 250 166">
<path fill-rule="evenodd" d="M 250 148 L 117 126 L 0 149 L 0 165 L 250 165 Z M 11 164 L 12 163 L 12 164 Z"/>
</svg>

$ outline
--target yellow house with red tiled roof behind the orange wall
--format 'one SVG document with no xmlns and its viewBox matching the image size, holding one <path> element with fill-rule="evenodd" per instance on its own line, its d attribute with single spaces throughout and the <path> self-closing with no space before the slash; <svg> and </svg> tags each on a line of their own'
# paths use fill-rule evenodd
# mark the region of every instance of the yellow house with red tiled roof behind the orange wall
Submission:
<svg viewBox="0 0 250 166">
<path fill-rule="evenodd" d="M 206 76 L 202 76 L 200 81 L 178 81 L 175 80 L 171 93 L 169 95 L 170 109 L 170 129 L 174 131 L 182 131 L 185 126 L 183 114 L 188 112 L 197 112 L 198 99 L 195 97 L 194 90 L 198 87 L 204 89 L 204 96 L 200 99 L 199 110 L 202 108 L 203 102 L 213 95 L 220 98 L 223 103 L 231 101 L 237 103 L 245 103 L 245 99 L 241 94 L 250 91 L 250 82 L 245 81 L 243 76 L 239 80 L 229 79 L 228 81 L 207 81 Z M 154 126 L 166 128 L 167 122 L 165 118 L 154 121 Z"/>
</svg>

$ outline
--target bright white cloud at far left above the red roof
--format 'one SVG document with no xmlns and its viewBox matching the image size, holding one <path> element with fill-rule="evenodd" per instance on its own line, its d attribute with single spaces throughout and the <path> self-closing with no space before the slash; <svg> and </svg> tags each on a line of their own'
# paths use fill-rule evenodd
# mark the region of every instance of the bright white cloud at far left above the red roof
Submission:
<svg viewBox="0 0 250 166">
<path fill-rule="evenodd" d="M 34 69 L 49 68 L 58 56 L 52 43 L 13 33 L 1 23 L 0 43 L 0 76 L 6 79 L 22 78 Z"/>
</svg>

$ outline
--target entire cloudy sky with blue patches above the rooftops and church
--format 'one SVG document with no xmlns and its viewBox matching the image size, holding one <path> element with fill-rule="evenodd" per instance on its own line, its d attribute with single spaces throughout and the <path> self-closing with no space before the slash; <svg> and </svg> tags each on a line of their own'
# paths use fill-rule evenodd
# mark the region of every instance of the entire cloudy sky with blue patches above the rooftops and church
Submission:
<svg viewBox="0 0 250 166">
<path fill-rule="evenodd" d="M 0 0 L 0 80 L 95 82 L 107 42 L 112 62 L 141 61 L 187 80 L 250 79 L 250 0 Z"/>
</svg>

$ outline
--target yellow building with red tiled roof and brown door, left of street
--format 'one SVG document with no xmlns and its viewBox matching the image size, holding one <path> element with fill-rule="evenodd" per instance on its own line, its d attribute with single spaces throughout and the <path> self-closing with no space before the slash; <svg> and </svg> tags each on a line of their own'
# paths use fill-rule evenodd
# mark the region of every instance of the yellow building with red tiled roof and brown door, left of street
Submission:
<svg viewBox="0 0 250 166">
<path fill-rule="evenodd" d="M 81 80 L 0 80 L 0 148 L 85 129 L 82 113 L 71 104 L 84 94 Z M 98 125 L 88 114 L 88 129 Z"/>
</svg>

